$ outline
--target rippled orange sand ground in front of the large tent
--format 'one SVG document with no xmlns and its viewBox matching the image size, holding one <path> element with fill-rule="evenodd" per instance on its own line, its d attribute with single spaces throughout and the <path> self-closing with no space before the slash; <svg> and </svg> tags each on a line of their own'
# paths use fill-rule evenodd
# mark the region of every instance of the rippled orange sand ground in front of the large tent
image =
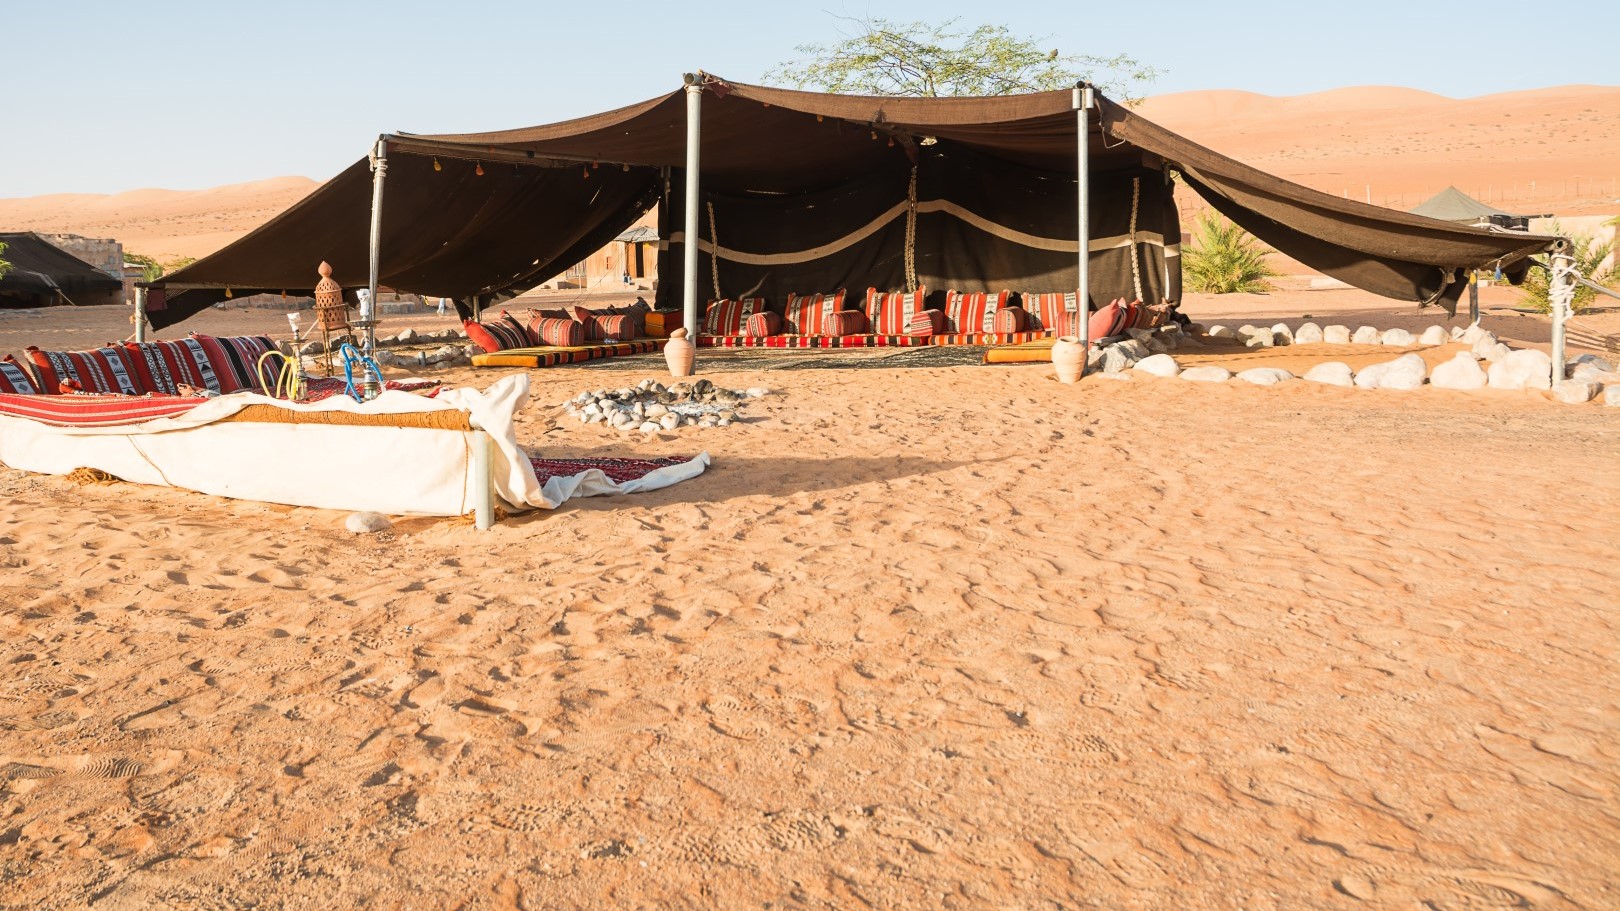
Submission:
<svg viewBox="0 0 1620 911">
<path fill-rule="evenodd" d="M 1030 365 L 554 420 L 654 363 L 533 371 L 522 439 L 713 468 L 484 533 L 0 468 L 0 908 L 1620 906 L 1620 410 Z"/>
</svg>

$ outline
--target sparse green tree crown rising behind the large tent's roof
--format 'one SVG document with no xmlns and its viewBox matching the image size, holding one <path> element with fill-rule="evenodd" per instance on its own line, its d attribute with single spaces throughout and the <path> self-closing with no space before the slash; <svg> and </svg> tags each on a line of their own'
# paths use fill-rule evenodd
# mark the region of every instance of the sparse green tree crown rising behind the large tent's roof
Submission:
<svg viewBox="0 0 1620 911">
<path fill-rule="evenodd" d="M 959 19 L 941 24 L 844 18 L 850 32 L 834 44 L 802 44 L 800 60 L 765 75 L 802 89 L 865 96 L 1006 96 L 1072 88 L 1090 81 L 1128 104 L 1140 101 L 1136 86 L 1158 70 L 1124 53 L 1094 57 L 1047 50 L 1038 39 L 1006 26 L 966 29 Z"/>
</svg>

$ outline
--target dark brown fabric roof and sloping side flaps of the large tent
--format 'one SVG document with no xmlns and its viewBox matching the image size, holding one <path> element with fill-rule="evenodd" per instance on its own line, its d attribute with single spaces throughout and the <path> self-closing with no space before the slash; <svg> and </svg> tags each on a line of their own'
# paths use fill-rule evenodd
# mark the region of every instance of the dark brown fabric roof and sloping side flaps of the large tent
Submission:
<svg viewBox="0 0 1620 911">
<path fill-rule="evenodd" d="M 1511 276 L 1515 264 L 1523 271 L 1526 256 L 1555 240 L 1319 193 L 1220 156 L 1102 96 L 1098 104 L 1087 138 L 1094 172 L 1174 167 L 1187 186 L 1260 240 L 1375 293 L 1453 306 L 1463 289 L 1458 271 L 1500 263 Z M 541 126 L 386 136 L 390 170 L 379 280 L 458 298 L 526 289 L 559 274 L 633 225 L 671 172 L 684 169 L 685 105 L 685 89 L 677 89 Z M 1076 169 L 1077 115 L 1068 91 L 860 97 L 703 76 L 701 117 L 705 193 L 826 191 L 902 164 L 919 143 L 962 146 L 1055 175 Z M 437 173 L 429 160 L 441 159 Z M 489 172 L 481 183 L 471 177 L 475 160 Z M 1072 206 L 1072 196 L 1053 204 Z M 177 323 L 222 297 L 199 285 L 306 290 L 322 259 L 353 284 L 366 271 L 368 220 L 369 173 L 360 160 L 248 237 L 156 282 L 172 293 L 152 323 Z"/>
</svg>

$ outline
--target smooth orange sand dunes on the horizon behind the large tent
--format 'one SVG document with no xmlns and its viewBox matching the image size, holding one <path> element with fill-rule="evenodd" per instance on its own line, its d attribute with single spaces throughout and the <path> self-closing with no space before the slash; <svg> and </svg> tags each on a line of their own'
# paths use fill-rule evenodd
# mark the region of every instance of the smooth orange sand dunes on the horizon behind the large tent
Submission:
<svg viewBox="0 0 1620 911">
<path fill-rule="evenodd" d="M 1526 214 L 1620 211 L 1620 86 L 1448 99 L 1393 86 L 1272 97 L 1243 91 L 1147 99 L 1145 117 L 1325 193 L 1411 209 L 1447 185 Z M 113 237 L 168 259 L 206 256 L 319 183 L 277 177 L 212 190 L 0 199 L 0 230 Z M 1196 206 L 1196 199 L 1183 206 Z"/>
</svg>

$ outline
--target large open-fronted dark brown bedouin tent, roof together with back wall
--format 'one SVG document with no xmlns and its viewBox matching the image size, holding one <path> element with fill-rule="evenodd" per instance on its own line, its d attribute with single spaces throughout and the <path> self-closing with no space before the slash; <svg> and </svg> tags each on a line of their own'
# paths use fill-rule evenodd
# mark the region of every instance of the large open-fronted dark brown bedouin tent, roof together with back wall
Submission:
<svg viewBox="0 0 1620 911">
<path fill-rule="evenodd" d="M 688 154 L 698 160 L 690 175 Z M 688 177 L 698 186 L 690 209 Z M 1181 297 L 1178 180 L 1312 269 L 1453 313 L 1469 269 L 1521 276 L 1526 258 L 1555 242 L 1328 196 L 1090 88 L 857 97 L 700 73 L 671 94 L 546 126 L 386 135 L 288 211 L 154 282 L 147 308 L 162 327 L 227 289 L 309 293 L 324 259 L 348 287 L 449 297 L 467 314 L 562 272 L 653 204 L 664 310 L 693 295 L 688 258 L 705 298 L 920 284 L 935 293 L 1085 287 L 1092 305 L 1155 303 Z M 697 250 L 685 246 L 687 225 Z M 373 253 L 374 274 L 361 282 Z"/>
</svg>

